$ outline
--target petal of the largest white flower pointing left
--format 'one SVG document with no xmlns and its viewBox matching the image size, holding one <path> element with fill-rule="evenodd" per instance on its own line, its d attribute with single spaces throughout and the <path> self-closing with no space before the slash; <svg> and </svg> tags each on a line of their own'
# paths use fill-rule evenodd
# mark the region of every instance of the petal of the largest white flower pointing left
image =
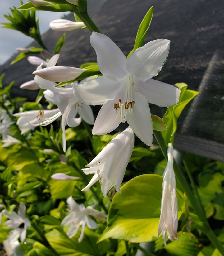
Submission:
<svg viewBox="0 0 224 256">
<path fill-rule="evenodd" d="M 75 97 L 88 105 L 102 105 L 105 101 L 114 99 L 120 88 L 119 81 L 109 75 L 99 76 L 83 84 L 71 84 Z"/>
</svg>

